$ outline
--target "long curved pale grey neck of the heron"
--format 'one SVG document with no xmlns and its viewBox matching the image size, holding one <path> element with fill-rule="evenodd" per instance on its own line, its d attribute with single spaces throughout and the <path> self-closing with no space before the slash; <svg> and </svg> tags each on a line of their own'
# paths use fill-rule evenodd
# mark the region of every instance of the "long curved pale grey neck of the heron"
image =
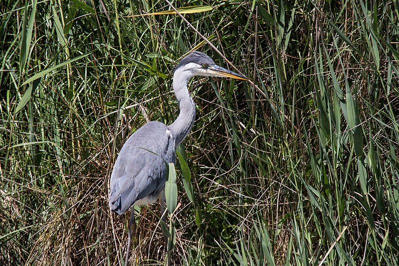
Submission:
<svg viewBox="0 0 399 266">
<path fill-rule="evenodd" d="M 185 75 L 182 71 L 176 71 L 173 76 L 173 89 L 180 104 L 179 117 L 169 125 L 176 146 L 179 145 L 189 134 L 196 119 L 196 105 L 190 96 L 187 86 L 192 75 Z"/>
</svg>

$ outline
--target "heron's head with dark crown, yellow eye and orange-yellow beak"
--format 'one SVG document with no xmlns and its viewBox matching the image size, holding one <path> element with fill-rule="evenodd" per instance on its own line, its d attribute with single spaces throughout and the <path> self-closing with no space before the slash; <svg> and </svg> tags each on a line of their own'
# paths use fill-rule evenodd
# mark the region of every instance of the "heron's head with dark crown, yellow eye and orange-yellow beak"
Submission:
<svg viewBox="0 0 399 266">
<path fill-rule="evenodd" d="M 247 80 L 241 74 L 216 65 L 209 56 L 198 51 L 190 53 L 180 61 L 175 69 L 175 76 L 177 75 L 181 78 L 187 77 L 188 79 L 194 76 L 205 76 Z"/>
</svg>

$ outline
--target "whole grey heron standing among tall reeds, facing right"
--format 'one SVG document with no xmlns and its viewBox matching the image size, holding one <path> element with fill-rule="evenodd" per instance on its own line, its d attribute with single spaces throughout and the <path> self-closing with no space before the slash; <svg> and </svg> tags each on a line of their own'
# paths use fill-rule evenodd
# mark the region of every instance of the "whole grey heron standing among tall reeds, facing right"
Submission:
<svg viewBox="0 0 399 266">
<path fill-rule="evenodd" d="M 176 146 L 186 138 L 196 118 L 196 106 L 187 88 L 194 76 L 247 80 L 243 75 L 216 65 L 201 52 L 192 52 L 180 61 L 173 75 L 173 89 L 180 105 L 178 118 L 169 126 L 158 121 L 148 122 L 129 137 L 116 159 L 111 174 L 109 207 L 117 214 L 124 214 L 134 205 L 152 204 L 159 198 L 163 215 L 167 170 L 164 160 L 176 163 Z M 125 265 L 133 224 L 132 207 Z"/>
</svg>

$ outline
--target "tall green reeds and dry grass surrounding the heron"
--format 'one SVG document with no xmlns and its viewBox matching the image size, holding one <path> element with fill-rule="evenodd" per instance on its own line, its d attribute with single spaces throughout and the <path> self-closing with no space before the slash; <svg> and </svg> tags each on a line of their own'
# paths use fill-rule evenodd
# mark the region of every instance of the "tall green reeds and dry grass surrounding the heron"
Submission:
<svg viewBox="0 0 399 266">
<path fill-rule="evenodd" d="M 195 201 L 178 163 L 172 262 L 398 265 L 398 0 L 173 4 L 211 5 L 185 17 L 256 86 L 190 84 Z M 1 2 L 1 265 L 123 263 L 128 217 L 108 208 L 122 144 L 177 117 L 184 54 L 229 67 L 179 16 L 132 16 L 168 9 Z M 131 263 L 164 264 L 158 213 L 141 208 Z"/>
</svg>

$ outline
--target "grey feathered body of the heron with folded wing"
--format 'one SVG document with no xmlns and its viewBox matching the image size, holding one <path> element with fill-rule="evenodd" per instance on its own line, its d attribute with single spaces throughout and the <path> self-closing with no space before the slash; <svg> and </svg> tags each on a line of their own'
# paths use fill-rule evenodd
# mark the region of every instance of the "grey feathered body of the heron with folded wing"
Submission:
<svg viewBox="0 0 399 266">
<path fill-rule="evenodd" d="M 176 162 L 175 141 L 165 124 L 149 122 L 130 136 L 116 159 L 111 174 L 111 210 L 123 214 L 137 201 L 155 202 L 165 188 L 164 160 Z"/>
</svg>

